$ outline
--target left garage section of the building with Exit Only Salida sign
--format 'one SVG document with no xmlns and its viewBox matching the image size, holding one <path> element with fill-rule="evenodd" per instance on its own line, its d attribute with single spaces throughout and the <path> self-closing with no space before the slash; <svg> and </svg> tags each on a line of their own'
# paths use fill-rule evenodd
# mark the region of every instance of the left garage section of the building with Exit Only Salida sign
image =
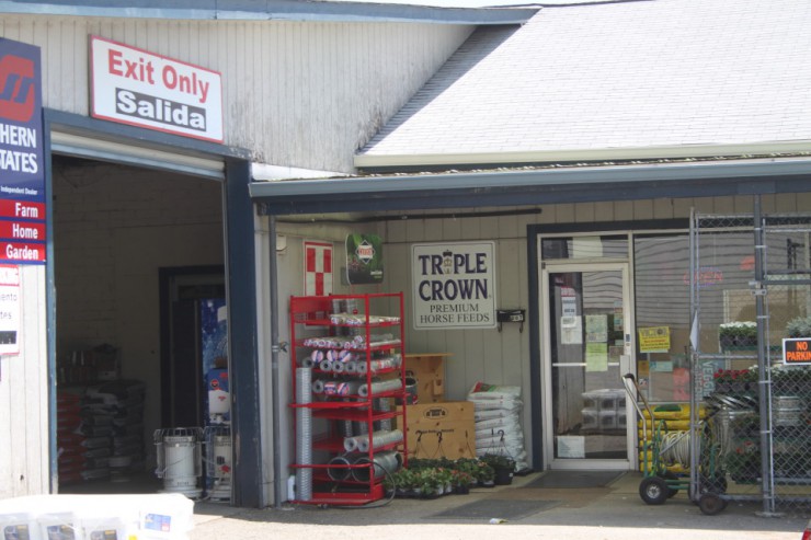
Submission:
<svg viewBox="0 0 811 540">
<path fill-rule="evenodd" d="M 2 425 L 14 434 L 2 449 L 0 493 L 66 492 L 116 472 L 95 467 L 108 456 L 81 456 L 77 467 L 61 451 L 102 433 L 73 433 L 70 390 L 96 382 L 132 384 L 114 388 L 139 398 L 126 412 L 134 424 L 118 426 L 138 432 L 126 435 L 136 449 L 113 457 L 151 473 L 156 430 L 208 421 L 205 318 L 217 326 L 227 313 L 228 347 L 214 351 L 213 365 L 227 358 L 230 501 L 273 504 L 288 441 L 273 430 L 287 397 L 272 392 L 286 375 L 270 361 L 267 231 L 256 226 L 251 179 L 352 172 L 353 150 L 478 24 L 515 24 L 535 10 L 286 1 L 259 11 L 239 2 L 1 9 L 2 38 L 39 49 L 48 214 L 39 264 L 20 266 L 23 343 L 0 366 Z M 20 92 L 14 72 L 3 78 Z M 111 108 L 103 97 L 113 90 Z"/>
</svg>

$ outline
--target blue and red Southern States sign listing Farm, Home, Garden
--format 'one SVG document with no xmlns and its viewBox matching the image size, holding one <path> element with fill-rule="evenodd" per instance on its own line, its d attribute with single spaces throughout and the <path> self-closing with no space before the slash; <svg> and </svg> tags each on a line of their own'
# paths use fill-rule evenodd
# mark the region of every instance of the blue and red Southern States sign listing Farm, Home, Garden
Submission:
<svg viewBox="0 0 811 540">
<path fill-rule="evenodd" d="M 0 263 L 45 263 L 39 48 L 0 38 Z"/>
</svg>

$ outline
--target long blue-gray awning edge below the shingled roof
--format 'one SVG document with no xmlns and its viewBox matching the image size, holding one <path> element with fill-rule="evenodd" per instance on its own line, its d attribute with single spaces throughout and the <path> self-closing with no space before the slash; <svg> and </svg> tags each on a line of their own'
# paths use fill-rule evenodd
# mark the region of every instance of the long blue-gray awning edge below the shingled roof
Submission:
<svg viewBox="0 0 811 540">
<path fill-rule="evenodd" d="M 266 215 L 469 208 L 811 191 L 811 159 L 729 159 L 253 182 Z"/>
</svg>

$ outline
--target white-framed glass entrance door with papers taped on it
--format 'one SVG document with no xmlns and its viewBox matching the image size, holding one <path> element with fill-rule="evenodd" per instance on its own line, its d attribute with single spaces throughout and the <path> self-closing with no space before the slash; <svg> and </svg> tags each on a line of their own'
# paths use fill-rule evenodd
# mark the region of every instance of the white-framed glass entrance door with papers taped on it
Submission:
<svg viewBox="0 0 811 540">
<path fill-rule="evenodd" d="M 547 265 L 544 298 L 544 456 L 553 469 L 632 467 L 628 264 Z"/>
</svg>

